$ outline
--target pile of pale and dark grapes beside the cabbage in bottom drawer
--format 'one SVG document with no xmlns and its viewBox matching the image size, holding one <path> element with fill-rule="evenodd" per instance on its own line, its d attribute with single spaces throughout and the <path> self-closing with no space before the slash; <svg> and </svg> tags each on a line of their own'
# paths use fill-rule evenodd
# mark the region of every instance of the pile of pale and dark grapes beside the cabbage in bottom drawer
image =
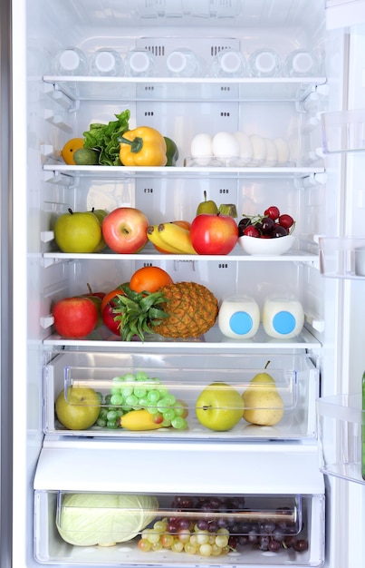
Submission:
<svg viewBox="0 0 365 568">
<path fill-rule="evenodd" d="M 171 506 L 171 515 L 161 517 L 142 532 L 138 544 L 141 551 L 169 549 L 220 556 L 245 552 L 247 547 L 272 553 L 308 549 L 308 540 L 297 534 L 291 511 L 285 507 L 278 507 L 270 518 L 256 511 L 250 517 L 244 497 L 176 496 Z"/>
</svg>

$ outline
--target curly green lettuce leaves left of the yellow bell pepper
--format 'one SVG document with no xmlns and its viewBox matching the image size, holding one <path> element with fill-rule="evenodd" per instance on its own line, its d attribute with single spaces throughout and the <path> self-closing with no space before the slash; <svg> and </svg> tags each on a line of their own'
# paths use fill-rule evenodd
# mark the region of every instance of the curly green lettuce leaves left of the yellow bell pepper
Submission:
<svg viewBox="0 0 365 568">
<path fill-rule="evenodd" d="M 99 163 L 104 166 L 121 166 L 120 136 L 129 130 L 130 111 L 114 115 L 117 120 L 108 124 L 91 123 L 90 129 L 83 132 L 84 148 L 93 148 L 100 152 Z"/>
</svg>

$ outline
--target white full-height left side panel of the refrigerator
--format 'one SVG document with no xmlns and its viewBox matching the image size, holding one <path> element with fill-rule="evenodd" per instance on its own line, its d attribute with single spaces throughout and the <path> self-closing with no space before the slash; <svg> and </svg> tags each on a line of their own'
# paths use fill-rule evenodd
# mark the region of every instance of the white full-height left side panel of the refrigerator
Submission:
<svg viewBox="0 0 365 568">
<path fill-rule="evenodd" d="M 28 66 L 30 57 L 27 27 L 27 3 L 13 2 L 13 321 L 14 321 L 14 447 L 13 447 L 13 566 L 31 568 L 36 565 L 33 550 L 34 523 L 33 476 L 43 441 L 42 387 L 38 373 L 41 361 L 41 341 L 37 338 L 39 300 L 36 297 L 37 250 L 34 236 L 38 233 L 35 215 L 39 161 L 34 160 L 34 123 L 36 99 L 34 86 L 39 77 Z M 32 6 L 35 19 L 37 5 Z M 3 18 L 2 18 L 3 22 Z M 36 34 L 36 30 L 34 30 Z M 26 38 L 26 41 L 25 41 Z M 27 73 L 32 73 L 29 76 Z M 39 87 L 38 87 L 39 90 Z M 27 135 L 28 133 L 28 135 Z M 34 147 L 33 147 L 34 146 Z M 29 187 L 29 180 L 31 186 Z M 32 202 L 30 202 L 32 201 Z M 38 208 L 39 209 L 39 208 Z M 39 212 L 37 213 L 39 217 Z M 39 233 L 38 233 L 39 234 Z M 29 283 L 29 289 L 26 288 Z M 28 379 L 26 378 L 28 377 Z"/>
</svg>

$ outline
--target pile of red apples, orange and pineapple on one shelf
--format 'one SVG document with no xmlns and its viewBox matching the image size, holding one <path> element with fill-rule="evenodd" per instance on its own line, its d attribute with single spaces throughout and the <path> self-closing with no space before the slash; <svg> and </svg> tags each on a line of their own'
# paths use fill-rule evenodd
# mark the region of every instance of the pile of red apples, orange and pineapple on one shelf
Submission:
<svg viewBox="0 0 365 568">
<path fill-rule="evenodd" d="M 216 322 L 218 301 L 197 282 L 174 282 L 166 270 L 142 267 L 130 282 L 108 293 L 63 298 L 53 305 L 53 322 L 63 338 L 84 338 L 104 324 L 124 341 L 158 333 L 164 338 L 198 338 Z"/>
</svg>

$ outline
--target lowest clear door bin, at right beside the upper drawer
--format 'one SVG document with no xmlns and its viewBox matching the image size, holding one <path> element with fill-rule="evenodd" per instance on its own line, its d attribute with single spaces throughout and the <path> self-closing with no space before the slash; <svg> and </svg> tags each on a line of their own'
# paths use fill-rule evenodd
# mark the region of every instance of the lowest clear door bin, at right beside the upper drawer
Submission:
<svg viewBox="0 0 365 568">
<path fill-rule="evenodd" d="M 361 395 L 323 397 L 317 401 L 321 471 L 365 484 L 365 412 Z M 363 457 L 362 457 L 363 456 Z"/>
</svg>

